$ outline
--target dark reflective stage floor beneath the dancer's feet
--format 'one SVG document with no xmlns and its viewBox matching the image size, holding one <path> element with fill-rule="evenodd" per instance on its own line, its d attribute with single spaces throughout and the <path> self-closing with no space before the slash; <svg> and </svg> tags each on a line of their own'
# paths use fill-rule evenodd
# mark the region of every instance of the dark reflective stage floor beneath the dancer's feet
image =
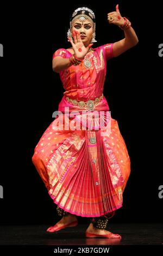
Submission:
<svg viewBox="0 0 163 256">
<path fill-rule="evenodd" d="M 122 239 L 86 238 L 86 224 L 47 233 L 48 225 L 0 227 L 0 245 L 163 245 L 162 223 L 112 223 L 108 230 Z"/>
</svg>

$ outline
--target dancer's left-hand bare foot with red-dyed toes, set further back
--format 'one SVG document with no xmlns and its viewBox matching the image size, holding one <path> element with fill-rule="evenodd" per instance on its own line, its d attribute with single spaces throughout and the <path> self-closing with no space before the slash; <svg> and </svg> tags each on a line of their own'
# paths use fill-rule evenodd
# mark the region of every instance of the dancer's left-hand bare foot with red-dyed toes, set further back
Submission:
<svg viewBox="0 0 163 256">
<path fill-rule="evenodd" d="M 49 227 L 46 231 L 55 232 L 60 229 L 66 228 L 65 225 L 67 225 L 68 227 L 76 227 L 78 223 L 73 223 L 73 222 L 78 222 L 76 215 L 68 214 L 66 216 L 63 216 L 59 222 L 57 222 L 54 226 Z"/>
</svg>

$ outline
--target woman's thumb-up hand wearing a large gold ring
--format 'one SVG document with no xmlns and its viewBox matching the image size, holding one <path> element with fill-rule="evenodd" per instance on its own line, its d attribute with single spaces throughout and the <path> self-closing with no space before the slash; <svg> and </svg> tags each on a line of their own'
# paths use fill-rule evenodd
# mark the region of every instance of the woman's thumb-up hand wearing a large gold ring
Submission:
<svg viewBox="0 0 163 256">
<path fill-rule="evenodd" d="M 115 24 L 117 26 L 123 26 L 125 20 L 120 14 L 118 4 L 116 5 L 116 11 L 112 11 L 112 13 L 108 13 L 108 21 L 109 23 Z"/>
</svg>

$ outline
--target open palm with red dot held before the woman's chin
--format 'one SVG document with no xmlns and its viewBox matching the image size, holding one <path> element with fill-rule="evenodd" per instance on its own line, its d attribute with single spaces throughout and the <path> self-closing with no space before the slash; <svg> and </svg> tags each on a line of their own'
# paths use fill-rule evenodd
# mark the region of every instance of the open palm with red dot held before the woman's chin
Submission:
<svg viewBox="0 0 163 256">
<path fill-rule="evenodd" d="M 76 57 L 79 59 L 83 59 L 93 44 L 89 44 L 87 47 L 85 47 L 82 39 L 80 38 L 80 33 L 76 30 L 72 32 L 72 35 L 73 35 L 73 41 L 71 40 L 71 38 L 68 38 L 68 41 L 71 42 L 71 45 Z"/>
</svg>

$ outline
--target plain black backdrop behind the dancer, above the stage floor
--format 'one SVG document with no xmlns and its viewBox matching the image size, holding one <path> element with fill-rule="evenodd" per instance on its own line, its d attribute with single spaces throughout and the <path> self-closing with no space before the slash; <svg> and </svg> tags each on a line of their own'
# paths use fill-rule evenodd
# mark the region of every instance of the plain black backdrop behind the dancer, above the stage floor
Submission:
<svg viewBox="0 0 163 256">
<path fill-rule="evenodd" d="M 162 9 L 156 1 L 82 1 L 9 4 L 2 7 L 1 40 L 1 224 L 55 223 L 56 205 L 32 163 L 35 145 L 52 122 L 64 89 L 52 71 L 52 54 L 68 48 L 74 9 L 96 15 L 93 47 L 123 38 L 109 25 L 116 4 L 128 17 L 139 44 L 108 62 L 104 96 L 118 121 L 131 160 L 123 208 L 112 222 L 161 222 L 162 202 Z M 87 218 L 79 217 L 80 222 Z"/>
</svg>

